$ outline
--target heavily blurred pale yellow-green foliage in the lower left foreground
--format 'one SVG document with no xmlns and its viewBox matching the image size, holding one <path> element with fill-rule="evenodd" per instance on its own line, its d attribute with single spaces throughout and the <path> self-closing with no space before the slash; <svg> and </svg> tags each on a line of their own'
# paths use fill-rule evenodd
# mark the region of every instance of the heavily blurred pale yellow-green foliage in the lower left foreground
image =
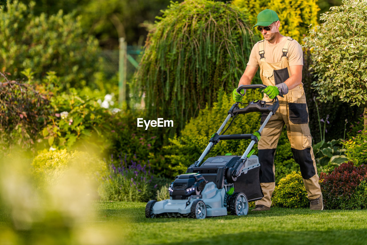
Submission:
<svg viewBox="0 0 367 245">
<path fill-rule="evenodd" d="M 100 178 L 96 173 L 105 163 L 66 150 L 44 154 L 33 163 L 26 159 L 18 155 L 0 160 L 1 244 L 123 242 L 113 240 L 116 227 L 90 223 L 97 215 L 92 206 Z"/>
</svg>

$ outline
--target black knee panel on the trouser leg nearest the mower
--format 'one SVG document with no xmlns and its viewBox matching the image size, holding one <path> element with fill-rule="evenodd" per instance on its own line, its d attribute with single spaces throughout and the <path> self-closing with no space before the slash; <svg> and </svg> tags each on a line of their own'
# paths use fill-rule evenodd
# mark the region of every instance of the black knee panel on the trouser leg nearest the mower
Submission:
<svg viewBox="0 0 367 245">
<path fill-rule="evenodd" d="M 270 183 L 275 182 L 275 176 L 273 173 L 274 156 L 276 149 L 259 150 L 259 163 L 260 163 L 260 182 Z"/>
</svg>

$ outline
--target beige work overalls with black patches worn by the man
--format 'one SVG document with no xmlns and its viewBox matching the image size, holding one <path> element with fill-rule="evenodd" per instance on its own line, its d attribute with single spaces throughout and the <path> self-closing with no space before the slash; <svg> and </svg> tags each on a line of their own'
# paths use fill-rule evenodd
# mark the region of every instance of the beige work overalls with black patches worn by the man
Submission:
<svg viewBox="0 0 367 245">
<path fill-rule="evenodd" d="M 264 40 L 259 42 L 260 55 L 260 77 L 264 85 L 280 84 L 286 81 L 291 72 L 288 63 L 288 45 L 292 41 L 288 37 L 283 47 L 283 55 L 280 62 L 267 63 L 264 52 Z M 289 90 L 284 97 L 278 96 L 279 109 L 270 117 L 264 130 L 261 132 L 261 139 L 258 142 L 259 162 L 260 162 L 260 184 L 264 198 L 255 202 L 256 205 L 270 207 L 270 200 L 275 188 L 275 166 L 274 156 L 278 144 L 279 136 L 284 125 L 287 127 L 287 135 L 291 144 L 294 160 L 301 168 L 301 174 L 308 199 L 315 199 L 321 195 L 319 176 L 317 175 L 315 157 L 311 146 L 311 134 L 308 126 L 308 109 L 306 97 L 301 83 L 296 88 Z M 265 101 L 271 101 L 268 97 Z M 268 114 L 262 114 L 261 124 Z"/>
</svg>

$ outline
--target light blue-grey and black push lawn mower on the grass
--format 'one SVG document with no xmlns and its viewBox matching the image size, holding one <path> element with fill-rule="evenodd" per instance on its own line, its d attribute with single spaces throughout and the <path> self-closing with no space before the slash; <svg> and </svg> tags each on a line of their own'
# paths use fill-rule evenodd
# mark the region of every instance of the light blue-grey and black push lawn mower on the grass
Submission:
<svg viewBox="0 0 367 245">
<path fill-rule="evenodd" d="M 241 85 L 241 89 L 265 89 L 262 84 Z M 261 199 L 259 170 L 260 164 L 257 156 L 252 155 L 252 147 L 258 142 L 261 131 L 268 123 L 270 117 L 279 108 L 277 97 L 272 102 L 254 100 L 244 108 L 239 108 L 236 102 L 228 111 L 228 116 L 218 131 L 213 134 L 204 152 L 193 163 L 185 174 L 175 177 L 168 188 L 170 199 L 157 202 L 150 200 L 145 207 L 145 217 L 192 217 L 204 219 L 210 216 L 224 216 L 228 212 L 232 215 L 246 215 L 248 202 Z M 239 114 L 250 112 L 268 114 L 258 131 L 253 134 L 224 135 L 235 117 Z M 221 133 L 229 119 L 232 121 Z M 224 156 L 208 157 L 201 162 L 210 152 L 212 147 L 221 140 L 251 139 L 250 144 L 242 156 L 226 154 Z"/>
</svg>

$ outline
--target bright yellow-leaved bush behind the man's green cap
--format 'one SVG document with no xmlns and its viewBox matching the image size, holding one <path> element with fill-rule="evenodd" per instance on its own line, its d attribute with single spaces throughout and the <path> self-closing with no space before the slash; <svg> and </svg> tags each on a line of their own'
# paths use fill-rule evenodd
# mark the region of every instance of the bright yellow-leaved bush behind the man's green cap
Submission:
<svg viewBox="0 0 367 245">
<path fill-rule="evenodd" d="M 257 14 L 262 10 L 274 10 L 280 20 L 280 34 L 290 36 L 299 43 L 307 35 L 308 26 L 317 25 L 317 12 L 320 10 L 316 0 L 233 0 L 232 4 L 250 13 L 249 21 L 252 25 L 256 24 Z M 257 33 L 262 37 L 260 32 Z"/>
</svg>

